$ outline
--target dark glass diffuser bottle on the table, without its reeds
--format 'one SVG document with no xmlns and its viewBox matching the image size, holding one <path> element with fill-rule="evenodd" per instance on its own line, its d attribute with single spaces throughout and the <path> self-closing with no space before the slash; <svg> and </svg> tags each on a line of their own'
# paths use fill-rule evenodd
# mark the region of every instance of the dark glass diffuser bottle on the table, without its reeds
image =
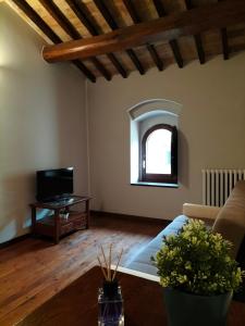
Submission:
<svg viewBox="0 0 245 326">
<path fill-rule="evenodd" d="M 124 326 L 123 299 L 117 280 L 105 281 L 98 292 L 98 326 Z"/>
</svg>

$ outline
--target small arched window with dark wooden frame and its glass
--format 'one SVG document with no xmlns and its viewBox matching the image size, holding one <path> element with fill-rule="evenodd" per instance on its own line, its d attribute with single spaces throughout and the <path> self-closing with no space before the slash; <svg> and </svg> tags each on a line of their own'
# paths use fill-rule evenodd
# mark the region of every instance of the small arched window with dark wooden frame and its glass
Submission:
<svg viewBox="0 0 245 326">
<path fill-rule="evenodd" d="M 143 136 L 139 162 L 140 181 L 177 183 L 177 130 L 158 124 Z"/>
</svg>

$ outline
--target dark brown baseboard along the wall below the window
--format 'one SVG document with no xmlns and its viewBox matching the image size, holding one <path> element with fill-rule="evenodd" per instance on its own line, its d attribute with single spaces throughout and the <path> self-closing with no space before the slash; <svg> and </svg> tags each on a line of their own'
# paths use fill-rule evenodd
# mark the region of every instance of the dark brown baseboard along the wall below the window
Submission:
<svg viewBox="0 0 245 326">
<path fill-rule="evenodd" d="M 140 221 L 146 223 L 155 223 L 160 224 L 162 226 L 167 226 L 171 221 L 169 220 L 162 220 L 162 218 L 156 218 L 156 217 L 145 217 L 145 216 L 137 216 L 137 215 L 128 215 L 128 214 L 121 214 L 121 213 L 111 213 L 111 212 L 102 212 L 102 211 L 90 211 L 91 216 L 95 217 L 110 217 L 110 218 L 120 218 L 120 220 L 131 220 L 131 221 Z"/>
</svg>

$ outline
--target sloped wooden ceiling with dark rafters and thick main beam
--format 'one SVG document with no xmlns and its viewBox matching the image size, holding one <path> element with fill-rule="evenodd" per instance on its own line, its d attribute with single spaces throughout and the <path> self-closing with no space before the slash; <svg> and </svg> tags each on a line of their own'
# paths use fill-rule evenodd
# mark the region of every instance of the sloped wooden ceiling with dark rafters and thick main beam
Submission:
<svg viewBox="0 0 245 326">
<path fill-rule="evenodd" d="M 8 0 L 48 39 L 48 62 L 71 61 L 91 82 L 150 67 L 205 64 L 245 49 L 244 0 Z M 41 55 L 41 54 L 40 54 Z"/>
</svg>

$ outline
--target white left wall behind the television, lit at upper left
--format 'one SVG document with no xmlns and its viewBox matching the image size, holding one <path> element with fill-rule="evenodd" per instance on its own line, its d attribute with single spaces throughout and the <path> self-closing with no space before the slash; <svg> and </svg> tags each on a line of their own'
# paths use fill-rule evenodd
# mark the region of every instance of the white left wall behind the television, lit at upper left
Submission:
<svg viewBox="0 0 245 326">
<path fill-rule="evenodd" d="M 85 80 L 70 64 L 47 64 L 41 38 L 0 3 L 0 242 L 28 231 L 35 172 L 75 167 L 87 192 Z"/>
</svg>

